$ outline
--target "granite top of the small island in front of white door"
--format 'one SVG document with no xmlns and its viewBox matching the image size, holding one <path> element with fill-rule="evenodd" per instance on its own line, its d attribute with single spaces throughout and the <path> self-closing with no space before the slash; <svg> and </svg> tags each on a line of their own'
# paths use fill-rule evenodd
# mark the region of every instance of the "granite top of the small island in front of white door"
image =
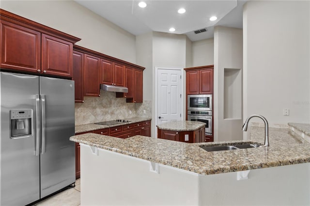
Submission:
<svg viewBox="0 0 310 206">
<path fill-rule="evenodd" d="M 205 123 L 200 121 L 171 121 L 156 126 L 160 130 L 172 131 L 195 131 L 205 127 Z"/>
</svg>

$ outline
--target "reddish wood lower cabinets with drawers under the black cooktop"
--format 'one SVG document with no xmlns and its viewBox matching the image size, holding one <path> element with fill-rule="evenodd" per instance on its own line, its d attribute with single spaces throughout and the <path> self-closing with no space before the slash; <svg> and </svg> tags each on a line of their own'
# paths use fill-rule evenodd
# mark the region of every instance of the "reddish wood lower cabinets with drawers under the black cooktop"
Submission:
<svg viewBox="0 0 310 206">
<path fill-rule="evenodd" d="M 142 135 L 142 136 L 151 136 L 151 120 L 132 123 L 132 124 L 125 124 L 116 127 L 104 128 L 100 130 L 93 130 L 89 132 L 80 132 L 78 134 L 84 133 L 96 133 L 102 135 L 109 135 L 112 137 L 119 137 L 119 138 L 128 138 L 135 135 Z M 76 143 L 76 179 L 80 178 L 80 146 L 79 143 Z"/>
</svg>

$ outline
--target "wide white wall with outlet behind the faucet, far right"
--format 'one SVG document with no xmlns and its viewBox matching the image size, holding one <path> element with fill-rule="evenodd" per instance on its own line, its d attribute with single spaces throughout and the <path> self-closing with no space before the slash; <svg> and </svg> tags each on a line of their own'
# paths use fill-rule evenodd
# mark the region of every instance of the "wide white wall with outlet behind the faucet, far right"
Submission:
<svg viewBox="0 0 310 206">
<path fill-rule="evenodd" d="M 310 123 L 310 1 L 248 1 L 243 29 L 244 118 Z"/>
</svg>

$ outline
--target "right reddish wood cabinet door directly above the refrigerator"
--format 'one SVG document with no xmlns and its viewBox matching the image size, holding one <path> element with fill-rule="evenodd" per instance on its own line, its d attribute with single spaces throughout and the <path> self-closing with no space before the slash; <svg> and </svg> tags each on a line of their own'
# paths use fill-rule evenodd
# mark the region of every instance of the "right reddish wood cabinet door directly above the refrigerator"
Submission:
<svg viewBox="0 0 310 206">
<path fill-rule="evenodd" d="M 45 74 L 73 76 L 73 44 L 46 34 L 41 35 L 41 68 Z"/>
</svg>

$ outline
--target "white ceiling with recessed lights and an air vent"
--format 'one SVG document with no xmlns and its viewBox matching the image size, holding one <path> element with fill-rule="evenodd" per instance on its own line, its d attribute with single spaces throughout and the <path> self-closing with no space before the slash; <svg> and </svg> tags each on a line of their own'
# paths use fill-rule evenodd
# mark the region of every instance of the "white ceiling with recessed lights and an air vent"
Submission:
<svg viewBox="0 0 310 206">
<path fill-rule="evenodd" d="M 134 35 L 151 31 L 186 34 L 191 41 L 213 37 L 214 26 L 242 28 L 242 7 L 247 0 L 76 0 L 82 6 Z M 185 14 L 178 14 L 185 8 Z M 210 21 L 213 15 L 216 21 Z M 176 30 L 170 32 L 173 27 Z M 195 30 L 206 32 L 195 34 Z"/>
</svg>

